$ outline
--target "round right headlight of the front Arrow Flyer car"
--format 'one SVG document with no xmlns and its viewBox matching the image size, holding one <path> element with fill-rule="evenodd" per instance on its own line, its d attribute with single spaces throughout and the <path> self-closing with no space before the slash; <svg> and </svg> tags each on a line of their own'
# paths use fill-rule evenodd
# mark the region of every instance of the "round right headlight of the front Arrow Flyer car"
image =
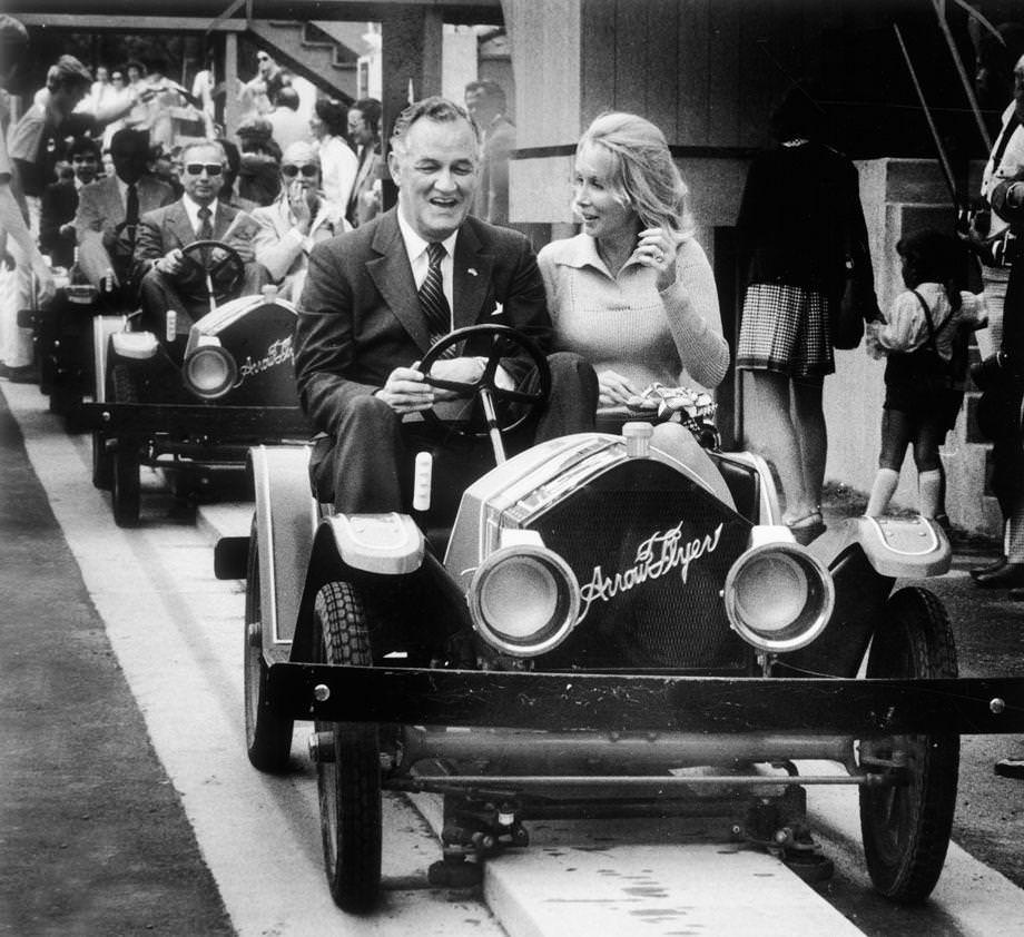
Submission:
<svg viewBox="0 0 1024 937">
<path fill-rule="evenodd" d="M 726 576 L 726 613 L 740 637 L 761 651 L 806 647 L 831 617 L 836 590 L 821 562 L 794 543 L 742 554 Z"/>
</svg>

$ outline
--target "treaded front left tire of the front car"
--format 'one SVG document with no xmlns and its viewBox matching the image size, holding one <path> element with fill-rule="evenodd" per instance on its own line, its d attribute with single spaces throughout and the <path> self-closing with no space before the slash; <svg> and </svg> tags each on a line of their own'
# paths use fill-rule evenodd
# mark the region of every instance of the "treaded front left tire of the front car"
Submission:
<svg viewBox="0 0 1024 937">
<path fill-rule="evenodd" d="M 351 583 L 329 582 L 316 595 L 314 620 L 322 662 L 370 667 L 370 629 Z M 324 868 L 335 904 L 343 910 L 370 910 L 381 891 L 381 744 L 376 726 L 315 723 L 318 738 L 333 736 L 333 758 L 319 757 Z"/>
</svg>

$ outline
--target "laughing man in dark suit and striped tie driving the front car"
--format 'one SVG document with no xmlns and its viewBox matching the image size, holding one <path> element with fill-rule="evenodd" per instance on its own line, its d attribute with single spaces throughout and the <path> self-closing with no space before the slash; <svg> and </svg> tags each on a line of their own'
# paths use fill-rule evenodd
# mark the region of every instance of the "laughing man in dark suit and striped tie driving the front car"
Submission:
<svg viewBox="0 0 1024 937">
<path fill-rule="evenodd" d="M 498 323 L 547 349 L 551 326 L 529 241 L 466 217 L 479 154 L 476 129 L 457 105 L 427 98 L 410 106 L 388 154 L 397 206 L 317 245 L 309 256 L 295 372 L 301 403 L 326 434 L 314 452 L 314 484 L 342 512 L 407 510 L 412 453 L 419 448 L 434 453 L 435 494 L 450 494 L 466 474 L 489 467 L 486 442 L 454 441 L 420 422 L 421 411 L 452 396 L 426 384 L 417 369 L 440 335 Z M 593 427 L 593 368 L 575 355 L 549 361 L 550 402 L 524 424 L 513 448 Z M 461 356 L 439 361 L 431 375 L 470 383 L 482 371 L 482 358 Z M 529 379 L 516 361 L 504 377 Z"/>
</svg>

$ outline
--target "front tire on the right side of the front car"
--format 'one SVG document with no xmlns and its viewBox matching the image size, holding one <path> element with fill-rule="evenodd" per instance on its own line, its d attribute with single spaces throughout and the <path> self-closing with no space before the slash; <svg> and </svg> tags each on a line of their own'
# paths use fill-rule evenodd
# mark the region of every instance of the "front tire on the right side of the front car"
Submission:
<svg viewBox="0 0 1024 937">
<path fill-rule="evenodd" d="M 872 640 L 867 677 L 956 675 L 956 647 L 942 602 L 916 586 L 895 592 Z M 905 769 L 892 766 L 894 754 L 905 759 Z M 879 763 L 873 767 L 873 760 Z M 949 846 L 959 736 L 861 741 L 860 762 L 870 771 L 906 772 L 906 783 L 860 788 L 860 831 L 875 888 L 899 904 L 920 903 L 938 881 Z"/>
</svg>

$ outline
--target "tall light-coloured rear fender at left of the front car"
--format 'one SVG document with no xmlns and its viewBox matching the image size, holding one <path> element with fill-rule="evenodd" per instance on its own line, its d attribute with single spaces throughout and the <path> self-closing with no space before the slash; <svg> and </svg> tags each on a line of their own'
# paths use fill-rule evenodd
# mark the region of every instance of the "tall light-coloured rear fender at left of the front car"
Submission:
<svg viewBox="0 0 1024 937">
<path fill-rule="evenodd" d="M 309 446 L 254 446 L 247 467 L 256 496 L 264 653 L 286 658 L 316 531 Z"/>
</svg>

